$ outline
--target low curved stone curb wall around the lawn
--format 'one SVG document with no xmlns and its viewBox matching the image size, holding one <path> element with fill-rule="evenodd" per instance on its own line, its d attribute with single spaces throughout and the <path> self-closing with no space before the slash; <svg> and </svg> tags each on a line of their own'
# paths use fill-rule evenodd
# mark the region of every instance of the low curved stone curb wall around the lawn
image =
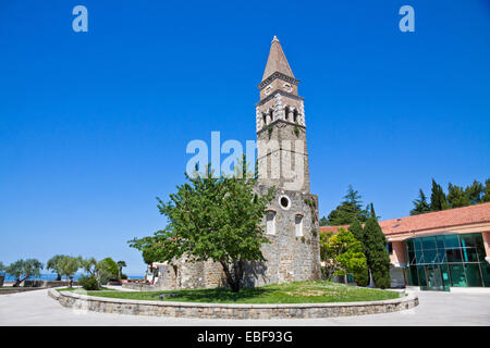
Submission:
<svg viewBox="0 0 490 348">
<path fill-rule="evenodd" d="M 418 306 L 418 297 L 408 294 L 396 299 L 366 302 L 293 303 L 293 304 L 226 304 L 171 301 L 143 301 L 86 296 L 50 289 L 63 307 L 101 313 L 134 315 L 201 318 L 201 319 L 290 319 L 332 318 L 390 313 Z"/>
</svg>

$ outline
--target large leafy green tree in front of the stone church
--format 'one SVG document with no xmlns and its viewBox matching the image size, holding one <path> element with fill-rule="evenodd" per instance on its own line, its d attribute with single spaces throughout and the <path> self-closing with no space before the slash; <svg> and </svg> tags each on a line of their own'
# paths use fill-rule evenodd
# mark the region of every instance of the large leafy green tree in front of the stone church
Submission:
<svg viewBox="0 0 490 348">
<path fill-rule="evenodd" d="M 246 163 L 245 160 L 243 163 Z M 255 191 L 257 175 L 249 175 L 246 164 L 242 175 L 212 177 L 187 176 L 170 201 L 158 199 L 160 212 L 169 225 L 150 237 L 130 240 L 138 250 L 149 250 L 158 262 L 188 257 L 188 261 L 219 262 L 233 291 L 243 286 L 246 262 L 266 261 L 262 243 L 268 243 L 261 223 L 273 197 Z"/>
</svg>

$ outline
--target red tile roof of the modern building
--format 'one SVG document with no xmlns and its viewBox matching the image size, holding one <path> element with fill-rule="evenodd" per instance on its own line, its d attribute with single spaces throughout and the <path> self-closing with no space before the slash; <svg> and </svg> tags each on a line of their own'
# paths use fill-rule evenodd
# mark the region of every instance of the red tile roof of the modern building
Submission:
<svg viewBox="0 0 490 348">
<path fill-rule="evenodd" d="M 490 222 L 490 202 L 463 208 L 448 209 L 432 213 L 380 221 L 385 235 L 419 232 L 434 228 L 470 225 Z M 343 226 L 321 226 L 320 232 L 334 232 Z"/>
</svg>

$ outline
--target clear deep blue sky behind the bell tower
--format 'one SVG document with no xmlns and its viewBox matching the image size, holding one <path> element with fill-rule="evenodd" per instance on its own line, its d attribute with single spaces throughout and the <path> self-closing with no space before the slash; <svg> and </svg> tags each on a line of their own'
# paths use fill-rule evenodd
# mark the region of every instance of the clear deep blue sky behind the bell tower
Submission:
<svg viewBox="0 0 490 348">
<path fill-rule="evenodd" d="M 74 33 L 72 9 L 88 9 Z M 399 9 L 415 9 L 401 33 Z M 192 139 L 255 139 L 273 35 L 305 97 L 320 214 L 348 184 L 382 219 L 430 178 L 490 174 L 490 3 L 0 1 L 0 260 L 125 260 L 163 226 Z"/>
</svg>

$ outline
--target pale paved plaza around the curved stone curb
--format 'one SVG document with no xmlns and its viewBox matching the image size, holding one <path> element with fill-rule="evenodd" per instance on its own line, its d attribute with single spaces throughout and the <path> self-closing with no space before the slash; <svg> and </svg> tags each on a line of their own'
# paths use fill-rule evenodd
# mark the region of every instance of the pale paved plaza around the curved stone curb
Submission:
<svg viewBox="0 0 490 348">
<path fill-rule="evenodd" d="M 416 291 L 414 309 L 362 316 L 289 320 L 204 320 L 83 312 L 61 307 L 48 290 L 0 296 L 0 325 L 490 325 L 490 289 Z"/>
</svg>

